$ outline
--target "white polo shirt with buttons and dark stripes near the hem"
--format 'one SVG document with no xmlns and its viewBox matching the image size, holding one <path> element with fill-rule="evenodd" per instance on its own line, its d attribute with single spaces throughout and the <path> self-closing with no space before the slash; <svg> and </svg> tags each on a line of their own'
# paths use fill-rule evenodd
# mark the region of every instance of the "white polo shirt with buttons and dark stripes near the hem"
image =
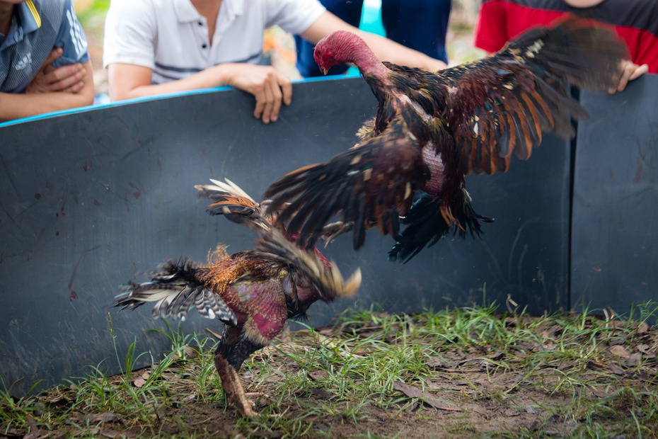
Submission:
<svg viewBox="0 0 658 439">
<path fill-rule="evenodd" d="M 225 62 L 257 64 L 265 28 L 299 34 L 324 11 L 318 0 L 223 0 L 210 45 L 206 19 L 190 0 L 112 0 L 103 66 L 149 67 L 162 84 Z"/>
</svg>

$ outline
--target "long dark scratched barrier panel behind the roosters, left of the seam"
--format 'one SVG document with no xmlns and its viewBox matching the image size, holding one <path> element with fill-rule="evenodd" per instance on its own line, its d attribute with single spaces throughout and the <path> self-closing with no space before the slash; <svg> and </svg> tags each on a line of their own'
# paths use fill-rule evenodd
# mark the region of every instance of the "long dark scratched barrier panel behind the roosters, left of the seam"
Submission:
<svg viewBox="0 0 658 439">
<path fill-rule="evenodd" d="M 255 198 L 287 171 L 352 146 L 374 114 L 362 80 L 309 81 L 278 122 L 251 116 L 240 91 L 109 106 L 0 127 L 0 376 L 13 394 L 78 377 L 85 365 L 118 372 L 129 343 L 154 358 L 167 331 L 142 307 L 112 308 L 122 283 L 168 258 L 203 261 L 217 242 L 251 246 L 246 229 L 204 212 L 193 186 L 228 177 Z M 369 232 L 354 252 L 340 237 L 326 253 L 343 273 L 362 268 L 354 300 L 311 307 L 328 323 L 346 307 L 390 312 L 504 302 L 532 312 L 568 307 L 570 143 L 546 137 L 527 162 L 468 178 L 475 209 L 495 217 L 483 239 L 444 240 L 406 265 Z M 186 331 L 219 324 L 186 322 Z M 142 357 L 142 364 L 149 363 Z"/>
</svg>

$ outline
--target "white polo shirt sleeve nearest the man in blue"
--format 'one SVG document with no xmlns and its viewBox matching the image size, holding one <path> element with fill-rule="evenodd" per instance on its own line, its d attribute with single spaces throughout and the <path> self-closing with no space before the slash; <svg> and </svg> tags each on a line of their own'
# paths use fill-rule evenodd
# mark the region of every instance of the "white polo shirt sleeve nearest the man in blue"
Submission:
<svg viewBox="0 0 658 439">
<path fill-rule="evenodd" d="M 105 16 L 103 67 L 115 63 L 155 67 L 155 8 L 148 0 L 112 0 Z"/>
</svg>

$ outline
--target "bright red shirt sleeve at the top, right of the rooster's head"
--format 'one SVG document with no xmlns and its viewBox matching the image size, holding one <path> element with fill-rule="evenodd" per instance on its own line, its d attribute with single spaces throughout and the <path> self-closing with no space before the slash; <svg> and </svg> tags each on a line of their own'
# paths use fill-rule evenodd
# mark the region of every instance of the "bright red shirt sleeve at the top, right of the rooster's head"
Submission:
<svg viewBox="0 0 658 439">
<path fill-rule="evenodd" d="M 475 25 L 475 47 L 487 52 L 497 52 L 509 40 L 507 14 L 504 1 L 484 0 L 480 6 L 478 23 Z"/>
</svg>

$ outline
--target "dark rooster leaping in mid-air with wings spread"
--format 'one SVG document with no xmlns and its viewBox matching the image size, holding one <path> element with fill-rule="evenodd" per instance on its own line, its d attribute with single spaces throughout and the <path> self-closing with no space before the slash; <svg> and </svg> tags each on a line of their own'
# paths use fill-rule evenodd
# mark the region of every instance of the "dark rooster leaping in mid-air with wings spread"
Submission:
<svg viewBox="0 0 658 439">
<path fill-rule="evenodd" d="M 449 233 L 479 235 L 480 222 L 492 220 L 473 210 L 465 174 L 507 171 L 512 153 L 528 159 L 542 132 L 572 137 L 572 118 L 588 113 L 568 86 L 605 91 L 625 57 L 613 31 L 578 18 L 434 73 L 379 62 L 357 35 L 337 31 L 318 43 L 316 62 L 325 72 L 356 64 L 376 97 L 376 117 L 352 149 L 292 171 L 265 197 L 273 210 L 289 203 L 279 220 L 308 246 L 333 217 L 352 227 L 354 249 L 366 229 L 393 236 L 393 261 L 409 261 Z"/>
</svg>

